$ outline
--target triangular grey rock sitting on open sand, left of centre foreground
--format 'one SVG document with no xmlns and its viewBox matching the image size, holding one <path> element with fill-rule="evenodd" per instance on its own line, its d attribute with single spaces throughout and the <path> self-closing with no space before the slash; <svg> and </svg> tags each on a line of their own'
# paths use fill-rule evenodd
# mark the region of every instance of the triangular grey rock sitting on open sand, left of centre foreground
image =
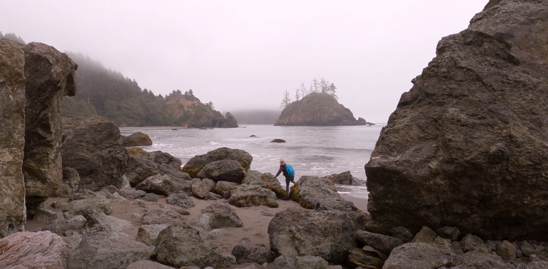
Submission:
<svg viewBox="0 0 548 269">
<path fill-rule="evenodd" d="M 196 218 L 192 219 L 192 225 L 211 230 L 221 227 L 243 227 L 242 220 L 231 206 L 226 203 L 213 203 L 202 209 Z"/>
</svg>

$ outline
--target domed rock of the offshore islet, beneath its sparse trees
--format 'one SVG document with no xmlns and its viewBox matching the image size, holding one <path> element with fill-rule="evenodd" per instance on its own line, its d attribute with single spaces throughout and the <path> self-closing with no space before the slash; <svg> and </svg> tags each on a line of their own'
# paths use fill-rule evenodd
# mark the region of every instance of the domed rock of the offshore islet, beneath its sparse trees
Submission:
<svg viewBox="0 0 548 269">
<path fill-rule="evenodd" d="M 311 93 L 290 103 L 279 115 L 275 126 L 366 125 L 357 121 L 350 109 L 327 93 Z"/>
</svg>

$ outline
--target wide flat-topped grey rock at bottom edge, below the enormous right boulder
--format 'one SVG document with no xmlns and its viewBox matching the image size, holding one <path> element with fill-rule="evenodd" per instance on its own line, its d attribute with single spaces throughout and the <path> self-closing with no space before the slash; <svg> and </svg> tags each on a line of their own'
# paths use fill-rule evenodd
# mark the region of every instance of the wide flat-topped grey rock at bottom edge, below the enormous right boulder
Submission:
<svg viewBox="0 0 548 269">
<path fill-rule="evenodd" d="M 408 267 L 404 267 L 407 265 Z M 439 268 L 457 265 L 456 254 L 450 245 L 407 243 L 392 250 L 383 268 Z M 401 266 L 401 267 L 397 267 Z"/>
</svg>

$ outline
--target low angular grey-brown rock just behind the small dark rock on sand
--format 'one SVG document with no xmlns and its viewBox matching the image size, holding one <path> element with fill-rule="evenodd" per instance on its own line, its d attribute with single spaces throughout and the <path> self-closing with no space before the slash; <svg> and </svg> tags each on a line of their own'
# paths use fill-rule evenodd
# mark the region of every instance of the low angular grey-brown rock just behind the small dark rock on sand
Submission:
<svg viewBox="0 0 548 269">
<path fill-rule="evenodd" d="M 185 191 L 192 195 L 192 182 L 180 178 L 174 178 L 167 174 L 156 174 L 146 178 L 143 182 L 135 186 L 135 190 L 144 190 L 158 195 L 176 194 L 179 191 Z"/>
</svg>

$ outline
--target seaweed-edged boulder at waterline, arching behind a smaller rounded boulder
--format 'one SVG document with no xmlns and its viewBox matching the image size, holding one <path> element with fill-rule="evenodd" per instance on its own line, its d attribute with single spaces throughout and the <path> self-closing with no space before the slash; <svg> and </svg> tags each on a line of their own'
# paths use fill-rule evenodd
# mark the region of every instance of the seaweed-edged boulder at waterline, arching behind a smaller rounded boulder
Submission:
<svg viewBox="0 0 548 269">
<path fill-rule="evenodd" d="M 236 160 L 247 171 L 253 161 L 253 156 L 241 149 L 218 148 L 208 151 L 206 154 L 192 157 L 186 165 L 182 167 L 182 172 L 189 173 L 192 178 L 196 178 L 204 166 L 220 160 Z"/>
</svg>

